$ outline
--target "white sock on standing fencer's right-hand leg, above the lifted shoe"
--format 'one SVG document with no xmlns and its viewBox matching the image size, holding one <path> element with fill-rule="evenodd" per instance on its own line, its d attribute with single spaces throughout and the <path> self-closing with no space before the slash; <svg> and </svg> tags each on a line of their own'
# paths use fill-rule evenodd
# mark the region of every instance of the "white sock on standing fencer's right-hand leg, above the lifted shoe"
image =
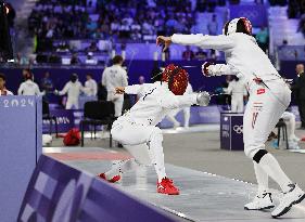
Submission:
<svg viewBox="0 0 305 222">
<path fill-rule="evenodd" d="M 264 155 L 259 160 L 258 166 L 280 185 L 283 192 L 290 190 L 288 185 L 292 183 L 291 180 L 287 177 L 279 162 L 271 154 L 268 153 Z"/>
</svg>

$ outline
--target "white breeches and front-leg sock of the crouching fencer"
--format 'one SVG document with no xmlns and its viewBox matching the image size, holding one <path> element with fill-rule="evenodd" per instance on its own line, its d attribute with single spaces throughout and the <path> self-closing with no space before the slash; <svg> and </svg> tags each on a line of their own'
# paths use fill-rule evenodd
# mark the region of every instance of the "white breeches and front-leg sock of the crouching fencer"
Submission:
<svg viewBox="0 0 305 222">
<path fill-rule="evenodd" d="M 116 120 L 111 133 L 113 139 L 122 143 L 135 157 L 136 162 L 153 165 L 158 181 L 166 177 L 162 146 L 163 135 L 160 128 Z"/>
</svg>

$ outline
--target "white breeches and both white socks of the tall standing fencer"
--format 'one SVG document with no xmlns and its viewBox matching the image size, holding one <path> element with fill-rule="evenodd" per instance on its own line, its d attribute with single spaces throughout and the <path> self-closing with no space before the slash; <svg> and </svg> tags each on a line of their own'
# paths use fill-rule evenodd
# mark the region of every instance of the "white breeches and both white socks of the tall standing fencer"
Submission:
<svg viewBox="0 0 305 222">
<path fill-rule="evenodd" d="M 243 142 L 245 155 L 254 160 L 258 194 L 268 188 L 268 177 L 287 192 L 290 179 L 277 159 L 265 149 L 265 142 L 279 118 L 288 107 L 291 91 L 283 80 L 269 81 L 264 87 L 251 88 L 250 100 L 243 117 Z"/>
</svg>

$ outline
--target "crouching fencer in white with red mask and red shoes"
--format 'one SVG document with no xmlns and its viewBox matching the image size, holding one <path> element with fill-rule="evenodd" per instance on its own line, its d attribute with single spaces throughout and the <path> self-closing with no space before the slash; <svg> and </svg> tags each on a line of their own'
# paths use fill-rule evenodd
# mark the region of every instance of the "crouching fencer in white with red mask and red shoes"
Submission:
<svg viewBox="0 0 305 222">
<path fill-rule="evenodd" d="M 141 165 L 153 165 L 157 174 L 157 192 L 178 195 L 179 190 L 165 172 L 163 135 L 156 125 L 175 108 L 192 104 L 206 106 L 209 95 L 207 92 L 183 94 L 188 74 L 178 66 L 170 64 L 162 75 L 162 81 L 116 88 L 117 93 L 142 95 L 129 112 L 114 121 L 111 130 L 113 139 L 122 143 L 135 158 L 118 162 L 99 177 L 116 182 L 124 172 Z"/>
</svg>

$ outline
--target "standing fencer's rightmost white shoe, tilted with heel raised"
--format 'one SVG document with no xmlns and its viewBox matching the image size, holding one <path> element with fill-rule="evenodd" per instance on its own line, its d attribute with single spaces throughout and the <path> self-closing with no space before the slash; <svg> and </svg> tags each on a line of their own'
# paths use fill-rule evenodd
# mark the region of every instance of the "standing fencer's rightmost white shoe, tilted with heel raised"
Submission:
<svg viewBox="0 0 305 222">
<path fill-rule="evenodd" d="M 305 198 L 303 192 L 297 184 L 289 184 L 291 190 L 284 193 L 279 206 L 271 212 L 272 218 L 278 218 L 287 213 L 293 205 L 300 204 Z"/>
</svg>

